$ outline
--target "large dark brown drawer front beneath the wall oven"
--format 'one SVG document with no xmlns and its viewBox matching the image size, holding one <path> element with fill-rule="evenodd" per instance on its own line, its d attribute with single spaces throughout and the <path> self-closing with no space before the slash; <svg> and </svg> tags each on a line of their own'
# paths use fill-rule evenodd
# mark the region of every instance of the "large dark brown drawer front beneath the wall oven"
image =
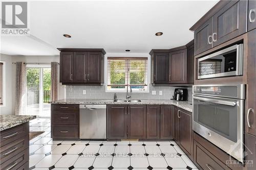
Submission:
<svg viewBox="0 0 256 170">
<path fill-rule="evenodd" d="M 255 147 L 255 146 L 254 146 Z M 255 149 L 255 148 L 254 148 Z M 254 150 L 255 152 L 255 150 Z M 194 133 L 193 162 L 199 169 L 215 170 L 242 170 L 242 164 L 233 164 L 234 159 L 214 144 Z M 255 168 L 253 168 L 255 169 Z"/>
</svg>

